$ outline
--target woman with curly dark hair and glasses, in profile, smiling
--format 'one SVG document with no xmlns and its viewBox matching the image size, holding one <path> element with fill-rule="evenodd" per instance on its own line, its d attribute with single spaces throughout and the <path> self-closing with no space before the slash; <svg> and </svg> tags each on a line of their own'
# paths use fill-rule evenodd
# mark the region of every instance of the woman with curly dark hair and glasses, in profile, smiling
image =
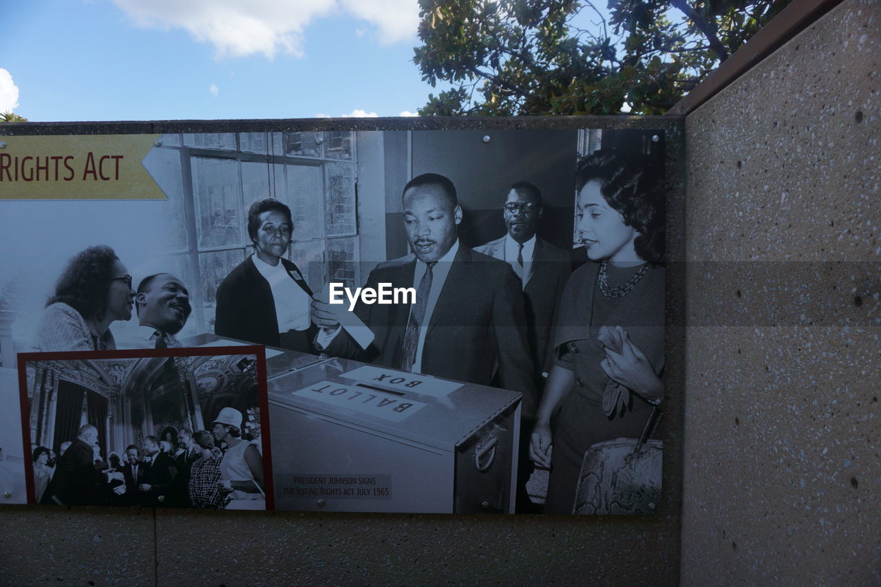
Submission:
<svg viewBox="0 0 881 587">
<path fill-rule="evenodd" d="M 131 276 L 114 250 L 89 247 L 58 278 L 33 346 L 46 353 L 115 349 L 110 323 L 129 320 L 134 303 Z"/>
</svg>

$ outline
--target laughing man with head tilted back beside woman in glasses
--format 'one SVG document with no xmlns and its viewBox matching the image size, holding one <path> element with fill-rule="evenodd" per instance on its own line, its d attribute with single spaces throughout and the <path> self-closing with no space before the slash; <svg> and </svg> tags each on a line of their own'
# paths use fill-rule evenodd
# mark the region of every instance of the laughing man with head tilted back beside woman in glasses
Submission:
<svg viewBox="0 0 881 587">
<path fill-rule="evenodd" d="M 156 273 L 141 279 L 135 294 L 139 326 L 137 335 L 117 340 L 117 348 L 175 348 L 175 335 L 187 323 L 192 307 L 189 291 L 170 273 Z"/>
</svg>

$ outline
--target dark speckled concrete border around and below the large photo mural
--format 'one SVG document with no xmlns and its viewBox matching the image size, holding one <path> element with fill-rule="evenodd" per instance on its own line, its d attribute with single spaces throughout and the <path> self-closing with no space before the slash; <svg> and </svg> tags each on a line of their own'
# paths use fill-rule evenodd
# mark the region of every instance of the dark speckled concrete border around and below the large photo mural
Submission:
<svg viewBox="0 0 881 587">
<path fill-rule="evenodd" d="M 366 120 L 366 119 L 365 119 Z M 684 258 L 685 147 L 677 117 L 36 124 L 19 134 L 357 128 L 664 130 L 669 248 Z M 418 124 L 418 127 L 415 126 Z M 12 134 L 0 125 L 0 134 Z M 683 312 L 684 266 L 668 271 Z M 0 507 L 0 584 L 676 585 L 682 501 L 685 330 L 668 331 L 663 501 L 658 516 L 393 516 Z M 279 450 L 274 448 L 273 450 Z M 100 537 L 100 542 L 95 537 Z M 24 539 L 23 539 L 24 537 Z M 36 540 L 33 537 L 41 537 Z M 83 545 L 88 544 L 85 548 Z M 117 555 L 131 549 L 118 568 Z M 137 554 L 135 551 L 137 550 Z M 49 573 L 48 571 L 51 571 Z"/>
</svg>

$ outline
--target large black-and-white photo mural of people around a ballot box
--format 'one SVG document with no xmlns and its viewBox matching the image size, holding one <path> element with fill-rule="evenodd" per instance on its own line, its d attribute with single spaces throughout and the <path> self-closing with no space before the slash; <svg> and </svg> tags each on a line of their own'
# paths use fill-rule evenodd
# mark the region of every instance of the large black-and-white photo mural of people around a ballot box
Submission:
<svg viewBox="0 0 881 587">
<path fill-rule="evenodd" d="M 143 167 L 166 200 L 98 200 L 75 183 L 81 199 L 4 198 L 2 348 L 265 346 L 273 482 L 254 485 L 274 487 L 277 509 L 656 513 L 662 131 L 144 141 Z M 33 225 L 52 238 L 33 239 Z M 89 393 L 109 401 L 89 390 L 82 413 Z M 57 462 L 55 424 L 28 397 L 32 453 Z M 144 458 L 147 436 L 176 453 L 181 428 L 238 421 L 201 406 L 196 426 L 184 401 L 166 422 L 142 404 L 118 431 L 77 420 L 95 426 L 83 442 L 108 465 L 90 500 L 123 499 L 111 450 L 124 466 L 130 444 Z M 254 408 L 229 407 L 242 422 Z M 72 421 L 64 442 L 79 438 Z M 63 502 L 48 487 L 37 501 Z M 235 491 L 255 498 L 250 489 Z M 139 505 L 185 503 L 180 487 L 166 497 Z"/>
</svg>

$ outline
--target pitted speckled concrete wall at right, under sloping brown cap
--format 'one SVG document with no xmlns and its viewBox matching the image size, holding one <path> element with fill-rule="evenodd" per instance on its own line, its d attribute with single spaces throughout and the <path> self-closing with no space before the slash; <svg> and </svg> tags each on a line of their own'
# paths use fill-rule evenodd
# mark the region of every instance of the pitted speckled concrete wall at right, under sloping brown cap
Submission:
<svg viewBox="0 0 881 587">
<path fill-rule="evenodd" d="M 881 583 L 881 4 L 686 118 L 685 585 Z"/>
</svg>

